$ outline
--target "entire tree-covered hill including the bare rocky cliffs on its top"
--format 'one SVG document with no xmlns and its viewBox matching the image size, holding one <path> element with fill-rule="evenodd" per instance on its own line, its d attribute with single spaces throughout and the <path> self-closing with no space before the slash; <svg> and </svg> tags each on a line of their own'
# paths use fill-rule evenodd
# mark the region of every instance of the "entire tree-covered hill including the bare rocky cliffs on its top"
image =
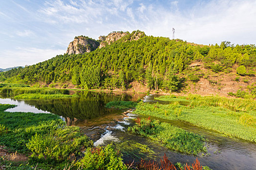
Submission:
<svg viewBox="0 0 256 170">
<path fill-rule="evenodd" d="M 0 74 L 0 81 L 61 88 L 130 92 L 256 95 L 256 46 L 198 45 L 112 32 L 94 40 L 77 36 L 66 54 Z"/>
</svg>

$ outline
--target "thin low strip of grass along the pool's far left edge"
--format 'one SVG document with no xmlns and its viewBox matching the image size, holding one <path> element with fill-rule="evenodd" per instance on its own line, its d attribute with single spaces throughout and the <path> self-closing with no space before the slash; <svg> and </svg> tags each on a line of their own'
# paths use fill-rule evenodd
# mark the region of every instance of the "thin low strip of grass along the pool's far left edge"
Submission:
<svg viewBox="0 0 256 170">
<path fill-rule="evenodd" d="M 76 95 L 66 95 L 66 94 L 20 94 L 15 96 L 15 99 L 56 99 L 56 98 L 70 98 Z"/>
</svg>

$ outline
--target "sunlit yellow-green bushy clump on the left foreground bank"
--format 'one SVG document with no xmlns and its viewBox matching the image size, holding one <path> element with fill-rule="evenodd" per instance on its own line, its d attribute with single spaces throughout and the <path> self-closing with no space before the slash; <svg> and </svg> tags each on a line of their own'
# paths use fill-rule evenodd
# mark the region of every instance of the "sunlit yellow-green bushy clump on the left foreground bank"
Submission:
<svg viewBox="0 0 256 170">
<path fill-rule="evenodd" d="M 81 147 L 91 147 L 92 141 L 80 133 L 79 127 L 66 126 L 51 131 L 48 135 L 36 133 L 26 146 L 33 153 L 31 158 L 38 162 L 44 162 L 45 159 L 62 161 L 70 153 L 77 155 Z"/>
</svg>

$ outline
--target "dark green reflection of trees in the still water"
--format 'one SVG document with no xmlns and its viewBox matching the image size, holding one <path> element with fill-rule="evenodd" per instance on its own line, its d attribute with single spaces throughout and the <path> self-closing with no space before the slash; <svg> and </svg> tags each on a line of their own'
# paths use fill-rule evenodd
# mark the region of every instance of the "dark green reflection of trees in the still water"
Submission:
<svg viewBox="0 0 256 170">
<path fill-rule="evenodd" d="M 137 101 L 145 94 L 105 93 L 76 91 L 79 97 L 50 100 L 25 100 L 43 111 L 62 116 L 67 125 L 75 125 L 78 121 L 99 118 L 113 113 L 113 109 L 105 108 L 110 101 Z"/>
</svg>

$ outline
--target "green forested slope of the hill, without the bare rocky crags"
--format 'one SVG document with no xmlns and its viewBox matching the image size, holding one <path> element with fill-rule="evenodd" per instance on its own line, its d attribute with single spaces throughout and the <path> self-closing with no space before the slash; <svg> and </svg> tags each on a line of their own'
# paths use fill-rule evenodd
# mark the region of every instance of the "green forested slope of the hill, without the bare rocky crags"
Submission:
<svg viewBox="0 0 256 170">
<path fill-rule="evenodd" d="M 131 88 L 131 82 L 138 82 L 149 90 L 177 91 L 188 82 L 207 79 L 205 70 L 224 75 L 237 68 L 239 77 L 256 74 L 255 45 L 224 41 L 204 46 L 145 34 L 137 41 L 131 40 L 138 33 L 142 32 L 132 32 L 89 53 L 57 55 L 42 63 L 2 72 L 0 82 L 63 87 L 72 83 L 77 88 L 123 90 Z"/>
</svg>

